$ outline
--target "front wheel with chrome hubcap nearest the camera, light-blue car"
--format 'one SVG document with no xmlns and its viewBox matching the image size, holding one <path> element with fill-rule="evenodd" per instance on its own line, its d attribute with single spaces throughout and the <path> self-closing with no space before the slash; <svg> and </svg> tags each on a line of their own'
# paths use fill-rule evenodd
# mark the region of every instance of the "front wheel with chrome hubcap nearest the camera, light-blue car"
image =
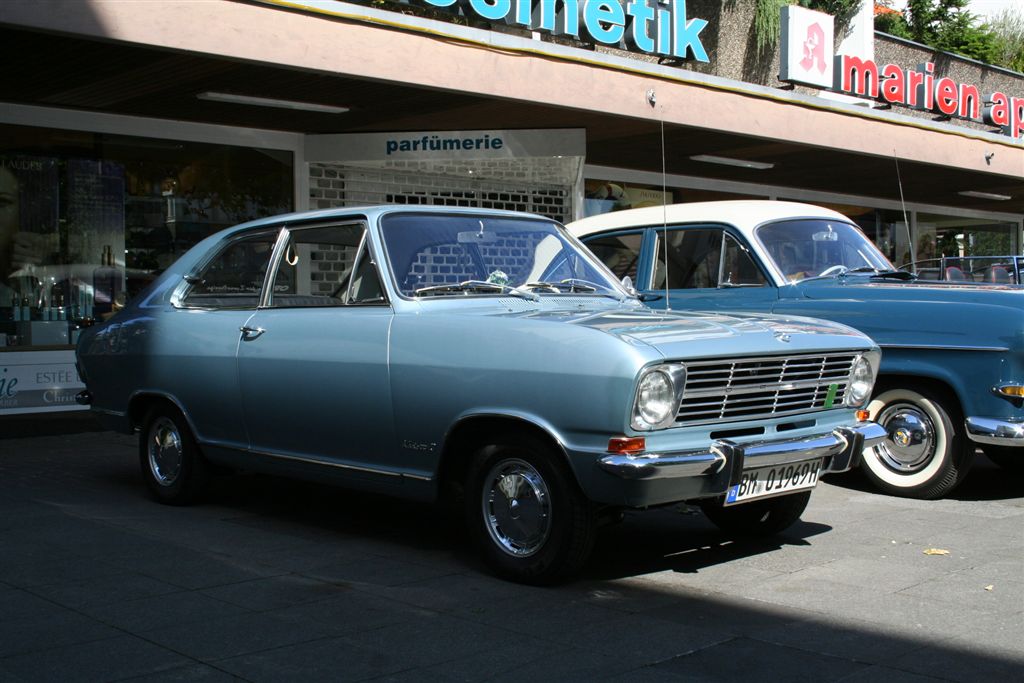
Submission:
<svg viewBox="0 0 1024 683">
<path fill-rule="evenodd" d="M 596 514 L 561 456 L 532 439 L 481 449 L 466 479 L 466 518 L 486 563 L 524 584 L 550 584 L 587 560 Z"/>
</svg>

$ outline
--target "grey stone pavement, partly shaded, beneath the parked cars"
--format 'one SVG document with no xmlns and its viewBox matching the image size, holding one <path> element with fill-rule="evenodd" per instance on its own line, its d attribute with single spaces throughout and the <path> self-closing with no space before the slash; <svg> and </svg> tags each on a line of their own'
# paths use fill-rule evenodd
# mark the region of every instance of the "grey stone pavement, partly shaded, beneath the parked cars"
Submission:
<svg viewBox="0 0 1024 683">
<path fill-rule="evenodd" d="M 631 514 L 538 589 L 431 506 L 238 475 L 165 507 L 131 437 L 0 438 L 0 683 L 239 679 L 1024 680 L 1024 480 L 831 478 L 770 543 Z"/>
</svg>

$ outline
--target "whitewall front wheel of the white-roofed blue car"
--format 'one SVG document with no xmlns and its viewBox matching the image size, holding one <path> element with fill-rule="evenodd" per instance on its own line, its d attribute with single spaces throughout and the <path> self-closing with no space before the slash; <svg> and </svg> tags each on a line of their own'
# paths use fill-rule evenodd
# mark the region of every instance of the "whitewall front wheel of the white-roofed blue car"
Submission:
<svg viewBox="0 0 1024 683">
<path fill-rule="evenodd" d="M 959 408 L 944 395 L 925 388 L 889 389 L 867 410 L 888 437 L 864 449 L 863 471 L 887 494 L 941 498 L 971 468 L 974 446 L 961 427 Z"/>
</svg>

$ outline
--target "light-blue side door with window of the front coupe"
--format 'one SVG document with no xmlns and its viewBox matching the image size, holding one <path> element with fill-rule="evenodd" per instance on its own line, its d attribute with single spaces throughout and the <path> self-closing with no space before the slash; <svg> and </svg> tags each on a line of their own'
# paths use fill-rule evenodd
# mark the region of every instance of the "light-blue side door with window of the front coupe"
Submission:
<svg viewBox="0 0 1024 683">
<path fill-rule="evenodd" d="M 388 471 L 392 310 L 362 222 L 296 227 L 239 345 L 251 450 Z"/>
</svg>

